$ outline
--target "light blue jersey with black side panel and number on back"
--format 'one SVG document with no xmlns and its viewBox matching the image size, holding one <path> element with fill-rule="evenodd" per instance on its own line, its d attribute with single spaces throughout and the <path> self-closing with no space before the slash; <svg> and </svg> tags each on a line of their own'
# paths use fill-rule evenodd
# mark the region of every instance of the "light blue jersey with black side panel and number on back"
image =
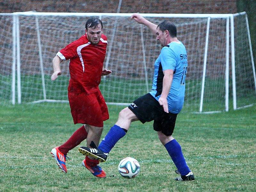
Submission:
<svg viewBox="0 0 256 192">
<path fill-rule="evenodd" d="M 167 96 L 169 112 L 179 113 L 183 107 L 185 79 L 188 58 L 185 46 L 181 42 L 171 42 L 164 46 L 155 62 L 152 90 L 149 92 L 158 100 L 163 90 L 164 70 L 174 71 L 172 86 Z"/>
</svg>

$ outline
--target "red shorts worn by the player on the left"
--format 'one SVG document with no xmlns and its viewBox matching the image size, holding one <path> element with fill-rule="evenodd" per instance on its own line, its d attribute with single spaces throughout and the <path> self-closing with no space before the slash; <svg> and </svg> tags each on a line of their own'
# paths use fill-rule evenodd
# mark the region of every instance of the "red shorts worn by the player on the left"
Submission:
<svg viewBox="0 0 256 192">
<path fill-rule="evenodd" d="M 74 124 L 103 127 L 103 121 L 109 119 L 108 107 L 100 90 L 90 94 L 68 92 L 68 100 Z"/>
</svg>

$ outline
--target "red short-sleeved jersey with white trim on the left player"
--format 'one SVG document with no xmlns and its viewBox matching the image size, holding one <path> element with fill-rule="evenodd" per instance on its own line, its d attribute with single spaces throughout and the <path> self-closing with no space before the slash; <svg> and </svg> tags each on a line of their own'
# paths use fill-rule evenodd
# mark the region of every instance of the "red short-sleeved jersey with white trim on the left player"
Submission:
<svg viewBox="0 0 256 192">
<path fill-rule="evenodd" d="M 70 59 L 68 92 L 89 94 L 99 90 L 107 44 L 104 34 L 96 45 L 91 44 L 85 34 L 57 53 L 62 60 Z"/>
</svg>

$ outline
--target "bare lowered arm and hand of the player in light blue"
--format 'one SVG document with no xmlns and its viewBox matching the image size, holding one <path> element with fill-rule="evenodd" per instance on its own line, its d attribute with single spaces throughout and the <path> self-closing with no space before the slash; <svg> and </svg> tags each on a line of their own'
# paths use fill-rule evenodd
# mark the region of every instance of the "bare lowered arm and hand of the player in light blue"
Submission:
<svg viewBox="0 0 256 192">
<path fill-rule="evenodd" d="M 172 69 L 164 70 L 163 91 L 162 91 L 162 94 L 161 94 L 158 102 L 160 105 L 163 106 L 164 112 L 166 112 L 166 113 L 169 113 L 167 96 L 170 92 L 170 88 L 172 85 L 172 79 L 173 79 L 173 70 Z"/>
</svg>

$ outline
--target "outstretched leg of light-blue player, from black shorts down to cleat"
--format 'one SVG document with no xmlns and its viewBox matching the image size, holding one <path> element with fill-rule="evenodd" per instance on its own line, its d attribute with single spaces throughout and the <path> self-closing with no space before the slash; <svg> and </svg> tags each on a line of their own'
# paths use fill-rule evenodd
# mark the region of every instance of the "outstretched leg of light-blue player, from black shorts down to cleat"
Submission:
<svg viewBox="0 0 256 192">
<path fill-rule="evenodd" d="M 78 150 L 84 155 L 98 157 L 101 162 L 105 162 L 108 153 L 115 146 L 116 142 L 124 137 L 131 122 L 140 120 L 141 123 L 145 123 L 155 119 L 155 116 L 158 113 L 158 111 L 155 110 L 156 106 L 160 105 L 150 93 L 141 96 L 134 100 L 129 107 L 124 108 L 119 113 L 116 124 L 111 127 L 98 148 L 95 147 L 90 149 L 87 147 L 80 147 Z"/>
</svg>

